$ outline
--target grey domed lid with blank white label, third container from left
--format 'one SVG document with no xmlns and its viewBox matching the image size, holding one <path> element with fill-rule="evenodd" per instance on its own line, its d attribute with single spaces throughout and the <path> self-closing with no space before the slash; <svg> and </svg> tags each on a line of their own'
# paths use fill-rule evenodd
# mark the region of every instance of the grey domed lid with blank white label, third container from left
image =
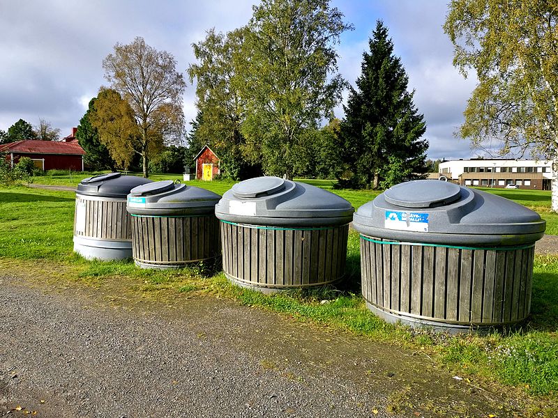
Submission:
<svg viewBox="0 0 558 418">
<path fill-rule="evenodd" d="M 347 224 L 353 212 L 337 194 L 272 176 L 237 183 L 215 207 L 216 216 L 228 222 L 292 228 Z"/>
</svg>

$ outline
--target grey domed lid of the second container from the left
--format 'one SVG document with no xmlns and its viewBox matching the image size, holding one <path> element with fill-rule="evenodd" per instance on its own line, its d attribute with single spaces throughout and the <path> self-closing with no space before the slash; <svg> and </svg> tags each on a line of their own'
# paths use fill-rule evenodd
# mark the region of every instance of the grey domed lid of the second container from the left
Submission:
<svg viewBox="0 0 558 418">
<path fill-rule="evenodd" d="M 201 187 L 163 180 L 130 190 L 126 210 L 146 216 L 206 215 L 213 214 L 219 199 L 221 196 Z"/>
</svg>

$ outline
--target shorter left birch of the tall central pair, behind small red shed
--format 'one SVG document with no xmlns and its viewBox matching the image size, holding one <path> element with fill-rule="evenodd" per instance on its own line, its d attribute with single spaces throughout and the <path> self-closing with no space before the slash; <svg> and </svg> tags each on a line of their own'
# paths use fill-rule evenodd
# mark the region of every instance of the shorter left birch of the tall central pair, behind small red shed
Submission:
<svg viewBox="0 0 558 418">
<path fill-rule="evenodd" d="M 195 125 L 196 140 L 205 144 L 219 155 L 221 173 L 233 179 L 246 178 L 255 169 L 243 157 L 246 141 L 241 134 L 245 120 L 246 100 L 242 88 L 245 83 L 239 76 L 239 65 L 244 61 L 242 54 L 246 29 L 236 29 L 225 35 L 214 29 L 206 38 L 193 44 L 198 63 L 190 65 L 190 82 L 197 79 L 196 96 L 199 123 Z M 203 118 L 201 115 L 203 114 Z"/>
</svg>

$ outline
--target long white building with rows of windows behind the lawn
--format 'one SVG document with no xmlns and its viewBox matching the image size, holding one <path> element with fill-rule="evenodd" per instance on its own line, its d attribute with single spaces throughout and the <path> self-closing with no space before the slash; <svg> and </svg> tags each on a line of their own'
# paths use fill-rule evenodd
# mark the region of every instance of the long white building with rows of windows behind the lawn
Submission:
<svg viewBox="0 0 558 418">
<path fill-rule="evenodd" d="M 550 190 L 552 161 L 472 158 L 444 161 L 442 176 L 462 186 Z"/>
</svg>

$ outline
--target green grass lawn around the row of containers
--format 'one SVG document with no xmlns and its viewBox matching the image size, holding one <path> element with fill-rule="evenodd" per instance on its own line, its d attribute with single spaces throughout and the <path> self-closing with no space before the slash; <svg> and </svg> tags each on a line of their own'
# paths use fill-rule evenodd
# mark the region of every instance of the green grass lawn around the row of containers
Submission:
<svg viewBox="0 0 558 418">
<path fill-rule="evenodd" d="M 201 182 L 192 182 L 198 183 Z M 316 184 L 315 180 L 313 183 Z M 331 187 L 331 184 L 321 181 L 318 184 Z M 231 185 L 225 182 L 204 183 L 204 186 L 220 193 Z M 375 195 L 372 192 L 335 192 L 342 196 L 345 194 L 344 197 L 354 201 L 355 206 L 357 202 L 367 201 Z M 506 197 L 522 199 L 526 203 L 536 201 L 529 200 L 529 194 L 523 191 L 511 192 Z M 75 256 L 72 252 L 74 199 L 73 192 L 28 187 L 0 188 L 0 271 L 22 271 L 38 264 L 36 274 L 44 274 L 43 270 L 55 271 L 61 280 L 66 276 L 79 277 L 94 283 L 109 277 L 125 276 L 137 280 L 137 286 L 130 291 L 153 295 L 159 292 L 209 293 L 230 297 L 241 304 L 278 311 L 298 320 L 423 350 L 460 376 L 514 385 L 527 397 L 550 405 L 548 408 L 558 408 L 558 256 L 536 256 L 532 315 L 522 330 L 495 332 L 488 336 L 437 335 L 388 325 L 365 308 L 359 288 L 357 233 L 349 234 L 349 279 L 342 289 L 266 296 L 232 286 L 222 272 L 208 275 L 200 266 L 178 272 L 151 271 L 137 269 L 130 262 L 100 263 Z M 536 201 L 537 206 L 545 204 L 545 199 Z M 65 276 L 64 271 L 70 273 Z M 324 299 L 331 302 L 320 304 L 319 301 Z"/>
</svg>

